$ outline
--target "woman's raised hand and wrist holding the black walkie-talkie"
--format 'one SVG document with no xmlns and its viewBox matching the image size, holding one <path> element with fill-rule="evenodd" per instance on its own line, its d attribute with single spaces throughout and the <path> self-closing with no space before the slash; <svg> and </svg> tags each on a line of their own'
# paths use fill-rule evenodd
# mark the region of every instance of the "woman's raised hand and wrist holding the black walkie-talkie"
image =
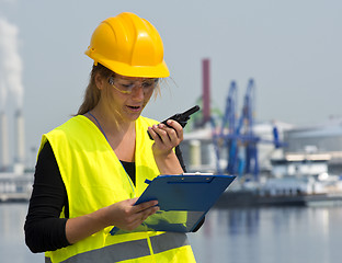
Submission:
<svg viewBox="0 0 342 263">
<path fill-rule="evenodd" d="M 164 124 L 148 127 L 149 134 L 155 139 L 153 157 L 161 174 L 180 174 L 183 173 L 183 169 L 173 148 L 183 140 L 183 127 L 173 119 L 168 119 L 167 124 L 170 127 Z"/>
</svg>

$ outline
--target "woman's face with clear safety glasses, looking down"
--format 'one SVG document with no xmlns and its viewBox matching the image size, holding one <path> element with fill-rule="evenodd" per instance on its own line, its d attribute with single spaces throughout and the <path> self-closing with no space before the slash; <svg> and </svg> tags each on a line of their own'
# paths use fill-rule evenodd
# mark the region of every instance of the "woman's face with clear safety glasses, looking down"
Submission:
<svg viewBox="0 0 342 263">
<path fill-rule="evenodd" d="M 103 79 L 101 99 L 111 113 L 122 121 L 136 121 L 149 102 L 158 79 L 115 75 Z"/>
</svg>

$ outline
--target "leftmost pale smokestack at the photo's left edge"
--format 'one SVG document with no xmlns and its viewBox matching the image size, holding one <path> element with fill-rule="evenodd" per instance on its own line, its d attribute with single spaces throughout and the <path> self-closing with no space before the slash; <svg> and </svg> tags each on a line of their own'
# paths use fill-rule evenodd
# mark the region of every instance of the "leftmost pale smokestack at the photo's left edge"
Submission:
<svg viewBox="0 0 342 263">
<path fill-rule="evenodd" d="M 7 116 L 3 111 L 0 112 L 0 129 L 1 129 L 1 165 L 0 171 L 7 171 L 10 167 L 9 151 L 9 133 Z"/>
</svg>

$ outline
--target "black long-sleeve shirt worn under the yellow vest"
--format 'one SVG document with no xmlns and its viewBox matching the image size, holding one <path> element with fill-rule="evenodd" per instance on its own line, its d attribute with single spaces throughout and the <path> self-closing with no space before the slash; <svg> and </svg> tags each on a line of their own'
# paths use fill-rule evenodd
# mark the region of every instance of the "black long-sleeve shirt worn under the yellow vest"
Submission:
<svg viewBox="0 0 342 263">
<path fill-rule="evenodd" d="M 179 147 L 175 148 L 175 153 L 185 171 L 182 152 Z M 124 161 L 122 163 L 135 183 L 135 163 Z M 59 218 L 62 208 L 65 209 L 66 218 Z M 70 243 L 66 237 L 68 217 L 67 191 L 52 146 L 47 141 L 39 152 L 36 163 L 33 192 L 24 226 L 25 242 L 30 250 L 37 253 L 54 251 L 69 245 Z"/>
</svg>

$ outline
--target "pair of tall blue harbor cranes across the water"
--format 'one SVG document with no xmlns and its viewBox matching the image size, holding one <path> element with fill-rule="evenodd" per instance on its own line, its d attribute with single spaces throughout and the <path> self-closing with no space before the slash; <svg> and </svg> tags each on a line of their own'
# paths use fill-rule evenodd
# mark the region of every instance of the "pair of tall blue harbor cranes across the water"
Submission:
<svg viewBox="0 0 342 263">
<path fill-rule="evenodd" d="M 244 174 L 252 174 L 253 179 L 258 181 L 258 144 L 272 142 L 275 148 L 282 147 L 283 144 L 278 139 L 275 126 L 273 127 L 274 139 L 271 141 L 264 140 L 254 134 L 254 80 L 250 79 L 248 82 L 239 117 L 237 115 L 237 84 L 231 81 L 219 130 L 215 119 L 210 118 L 216 167 L 218 172 L 238 174 L 240 178 Z M 227 151 L 227 167 L 224 170 L 219 162 L 223 151 Z"/>
</svg>

